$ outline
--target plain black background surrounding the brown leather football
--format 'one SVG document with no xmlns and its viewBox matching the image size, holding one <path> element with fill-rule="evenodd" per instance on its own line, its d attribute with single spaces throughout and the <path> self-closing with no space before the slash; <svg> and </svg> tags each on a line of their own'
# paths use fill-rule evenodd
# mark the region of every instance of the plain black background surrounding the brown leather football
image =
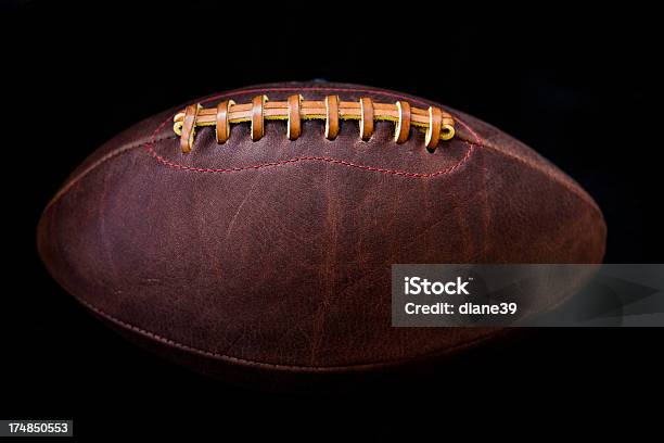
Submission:
<svg viewBox="0 0 664 443">
<path fill-rule="evenodd" d="M 115 134 L 195 97 L 324 78 L 426 97 L 500 127 L 598 201 L 609 226 L 605 262 L 661 263 L 655 15 L 560 3 L 480 10 L 3 8 L 0 418 L 73 418 L 78 436 L 348 440 L 452 430 L 470 438 L 480 428 L 516 433 L 526 423 L 548 433 L 572 421 L 613 432 L 628 422 L 626 413 L 644 414 L 637 428 L 652 423 L 644 401 L 659 401 L 664 369 L 655 329 L 532 331 L 439 368 L 425 387 L 413 380 L 343 394 L 268 394 L 209 381 L 127 344 L 37 256 L 41 210 Z"/>
</svg>

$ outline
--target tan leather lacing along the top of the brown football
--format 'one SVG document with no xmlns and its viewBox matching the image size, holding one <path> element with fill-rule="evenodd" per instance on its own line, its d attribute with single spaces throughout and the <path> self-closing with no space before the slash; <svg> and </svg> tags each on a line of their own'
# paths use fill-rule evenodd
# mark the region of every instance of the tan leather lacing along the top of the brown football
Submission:
<svg viewBox="0 0 664 443">
<path fill-rule="evenodd" d="M 395 123 L 394 141 L 404 143 L 414 126 L 425 132 L 424 140 L 429 150 L 435 150 L 438 141 L 455 136 L 455 121 L 437 106 L 427 110 L 412 107 L 406 101 L 396 103 L 374 103 L 363 97 L 359 101 L 340 101 L 337 96 L 328 96 L 323 101 L 304 100 L 299 94 L 290 96 L 286 101 L 270 102 L 267 96 L 257 96 L 251 103 L 238 104 L 225 100 L 216 107 L 202 107 L 191 104 L 174 117 L 174 130 L 180 136 L 182 152 L 190 152 L 199 126 L 215 126 L 217 143 L 225 143 L 231 131 L 231 123 L 248 122 L 252 125 L 252 140 L 260 140 L 265 134 L 265 121 L 285 119 L 286 136 L 296 140 L 302 134 L 303 119 L 323 119 L 324 136 L 334 140 L 339 135 L 340 121 L 359 121 L 359 136 L 363 141 L 371 139 L 374 121 Z"/>
</svg>

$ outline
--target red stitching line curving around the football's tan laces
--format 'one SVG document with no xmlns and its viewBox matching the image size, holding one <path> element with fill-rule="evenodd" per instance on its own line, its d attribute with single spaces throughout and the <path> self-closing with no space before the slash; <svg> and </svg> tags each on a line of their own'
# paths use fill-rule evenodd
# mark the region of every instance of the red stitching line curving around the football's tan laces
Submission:
<svg viewBox="0 0 664 443">
<path fill-rule="evenodd" d="M 375 94 L 382 94 L 385 97 L 396 97 L 396 98 L 404 98 L 407 96 L 404 94 L 397 94 L 394 92 L 388 92 L 388 91 L 380 91 L 380 90 L 375 90 L 375 89 L 350 89 L 350 88 L 272 88 L 272 89 L 265 89 L 265 88 L 255 88 L 255 89 L 245 89 L 245 90 L 237 90 L 237 91 L 232 91 L 232 92 L 225 92 L 218 96 L 213 96 L 209 97 L 203 101 L 201 101 L 200 103 L 207 103 L 210 102 L 213 100 L 218 100 L 221 98 L 227 98 L 230 96 L 237 96 L 237 94 L 241 94 L 241 93 L 252 93 L 252 92 L 279 92 L 279 91 L 301 91 L 303 89 L 306 90 L 310 90 L 310 91 L 330 91 L 330 92 L 367 92 L 367 93 L 375 93 Z M 425 102 L 418 100 L 418 99 L 413 99 L 408 97 L 408 99 L 414 103 L 419 103 L 422 105 L 426 105 Z M 465 123 L 463 123 L 461 119 L 459 119 L 459 117 L 455 116 L 455 118 L 459 122 L 459 124 L 461 124 L 469 132 L 471 132 L 475 139 L 477 140 L 478 144 L 483 144 L 484 140 L 474 131 L 472 130 Z M 339 159 L 332 159 L 332 157 L 324 157 L 324 156 L 302 156 L 302 157 L 294 157 L 294 159 L 289 159 L 289 160 L 283 160 L 283 161 L 279 161 L 279 162 L 272 162 L 272 163 L 263 163 L 263 164 L 257 164 L 257 165 L 251 165 L 251 166 L 241 166 L 241 167 L 230 167 L 230 168 L 206 168 L 206 167 L 194 167 L 194 166 L 186 166 L 179 163 L 175 163 L 170 160 L 166 160 L 163 156 L 161 156 L 159 154 L 157 154 L 157 152 L 154 150 L 154 142 L 156 139 L 156 135 L 164 128 L 164 126 L 166 126 L 166 124 L 168 124 L 170 122 L 170 117 L 168 117 L 166 121 L 164 121 L 161 125 L 157 126 L 157 128 L 154 130 L 154 132 L 152 134 L 151 139 L 145 142 L 145 148 L 148 149 L 148 152 L 150 153 L 150 155 L 152 155 L 157 162 L 176 168 L 176 169 L 180 169 L 180 170 L 190 170 L 190 172 L 194 172 L 194 173 L 235 173 L 235 172 L 241 172 L 241 170 L 250 170 L 250 169 L 261 169 L 261 168 L 266 168 L 266 167 L 277 167 L 277 166 L 284 166 L 284 165 L 290 165 L 293 163 L 298 163 L 298 162 L 325 162 L 325 163 L 332 163 L 332 164 L 337 164 L 337 165 L 342 165 L 342 166 L 347 166 L 347 167 L 355 167 L 361 170 L 367 170 L 367 172 L 374 172 L 374 173 L 383 173 L 383 174 L 392 174 L 392 175 L 397 175 L 397 176 L 401 176 L 401 177 L 408 177 L 408 178 L 432 178 L 432 177 L 436 177 L 439 175 L 445 175 L 445 174 L 449 174 L 451 172 L 454 172 L 455 169 L 457 169 L 459 166 L 461 166 L 463 163 L 465 163 L 470 156 L 472 155 L 475 144 L 470 143 L 465 140 L 463 140 L 464 143 L 467 143 L 469 145 L 468 151 L 465 152 L 465 155 L 459 161 L 457 162 L 454 166 L 450 166 L 446 169 L 442 169 L 442 170 L 437 170 L 434 173 L 408 173 L 405 170 L 397 170 L 397 169 L 385 169 L 385 168 L 380 168 L 380 167 L 374 167 L 374 166 L 365 166 L 365 165 L 358 165 L 355 163 L 350 163 L 344 160 L 339 160 Z"/>
</svg>

